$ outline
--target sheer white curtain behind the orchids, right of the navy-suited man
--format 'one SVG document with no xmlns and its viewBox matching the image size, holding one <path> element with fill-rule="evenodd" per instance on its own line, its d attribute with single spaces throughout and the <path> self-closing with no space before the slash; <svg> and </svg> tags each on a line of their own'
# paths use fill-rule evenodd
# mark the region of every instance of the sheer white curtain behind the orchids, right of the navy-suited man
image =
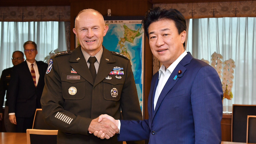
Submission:
<svg viewBox="0 0 256 144">
<path fill-rule="evenodd" d="M 194 58 L 208 60 L 216 52 L 222 61 L 233 59 L 233 99 L 223 100 L 223 111 L 233 104 L 256 104 L 256 18 L 190 19 L 187 51 Z"/>
</svg>

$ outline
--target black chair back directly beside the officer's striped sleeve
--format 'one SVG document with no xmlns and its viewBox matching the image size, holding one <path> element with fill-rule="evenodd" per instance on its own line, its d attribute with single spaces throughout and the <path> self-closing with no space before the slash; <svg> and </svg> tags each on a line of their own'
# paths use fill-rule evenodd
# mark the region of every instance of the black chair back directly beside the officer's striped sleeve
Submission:
<svg viewBox="0 0 256 144">
<path fill-rule="evenodd" d="M 57 130 L 44 122 L 42 108 L 37 108 L 32 129 Z"/>
</svg>

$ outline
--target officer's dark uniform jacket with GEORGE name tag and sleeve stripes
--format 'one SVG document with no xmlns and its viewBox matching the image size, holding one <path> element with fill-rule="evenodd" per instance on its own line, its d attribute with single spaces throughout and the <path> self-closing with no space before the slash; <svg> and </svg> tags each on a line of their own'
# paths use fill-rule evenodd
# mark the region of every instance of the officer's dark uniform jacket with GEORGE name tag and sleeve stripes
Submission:
<svg viewBox="0 0 256 144">
<path fill-rule="evenodd" d="M 109 75 L 114 67 L 123 72 Z M 88 134 L 92 119 L 101 114 L 121 119 L 121 108 L 124 120 L 142 120 L 130 60 L 104 47 L 95 83 L 80 46 L 55 54 L 46 71 L 41 104 L 46 123 L 59 130 L 60 144 L 122 143 L 117 134 L 109 140 Z"/>
</svg>

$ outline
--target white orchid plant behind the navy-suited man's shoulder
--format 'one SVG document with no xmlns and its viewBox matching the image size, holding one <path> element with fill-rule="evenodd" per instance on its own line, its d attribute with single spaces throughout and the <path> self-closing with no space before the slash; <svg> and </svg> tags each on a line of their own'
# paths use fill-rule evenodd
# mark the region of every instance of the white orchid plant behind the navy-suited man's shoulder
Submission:
<svg viewBox="0 0 256 144">
<path fill-rule="evenodd" d="M 233 74 L 234 74 L 234 68 L 236 68 L 236 65 L 235 65 L 235 61 L 232 59 L 225 60 L 224 62 L 221 61 L 222 59 L 223 57 L 221 54 L 214 52 L 212 54 L 211 66 L 214 69 L 216 69 L 220 79 L 222 79 L 221 84 L 222 84 L 222 91 L 223 91 L 223 99 L 227 98 L 228 100 L 231 100 L 233 98 L 233 94 L 231 92 L 233 87 L 233 79 L 234 79 Z M 210 63 L 208 60 L 204 60 L 204 59 L 201 59 L 201 60 L 208 64 Z"/>
</svg>

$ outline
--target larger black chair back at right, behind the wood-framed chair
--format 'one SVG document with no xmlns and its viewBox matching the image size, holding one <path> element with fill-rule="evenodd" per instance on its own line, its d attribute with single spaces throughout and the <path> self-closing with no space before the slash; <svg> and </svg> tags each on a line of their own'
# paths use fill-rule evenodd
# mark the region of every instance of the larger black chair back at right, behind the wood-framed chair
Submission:
<svg viewBox="0 0 256 144">
<path fill-rule="evenodd" d="M 256 105 L 233 105 L 231 141 L 246 142 L 247 115 L 256 115 Z"/>
</svg>

